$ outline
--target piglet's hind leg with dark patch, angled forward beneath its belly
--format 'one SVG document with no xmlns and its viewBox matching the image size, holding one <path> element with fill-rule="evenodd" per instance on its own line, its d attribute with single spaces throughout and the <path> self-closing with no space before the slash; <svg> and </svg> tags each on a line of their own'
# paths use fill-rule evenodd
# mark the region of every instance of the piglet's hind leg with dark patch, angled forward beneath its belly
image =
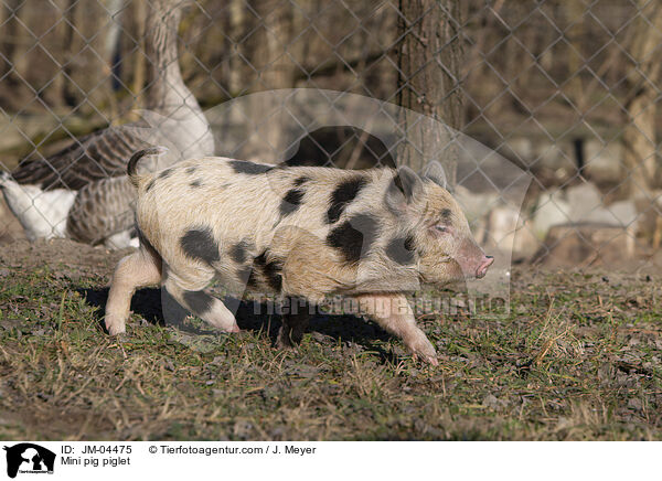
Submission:
<svg viewBox="0 0 662 481">
<path fill-rule="evenodd" d="M 212 278 L 213 274 L 205 278 L 183 281 L 181 277 L 169 271 L 163 287 L 180 306 L 203 321 L 224 332 L 239 332 L 239 327 L 229 309 L 204 289 Z M 166 312 L 163 314 L 168 316 Z"/>
</svg>

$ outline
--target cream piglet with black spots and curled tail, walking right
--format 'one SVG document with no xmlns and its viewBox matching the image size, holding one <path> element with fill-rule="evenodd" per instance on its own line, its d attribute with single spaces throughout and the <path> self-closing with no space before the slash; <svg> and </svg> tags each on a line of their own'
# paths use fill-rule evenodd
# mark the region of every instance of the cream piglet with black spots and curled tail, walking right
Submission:
<svg viewBox="0 0 662 481">
<path fill-rule="evenodd" d="M 106 328 L 125 331 L 137 288 L 162 285 L 184 308 L 226 332 L 233 313 L 206 288 L 275 293 L 319 303 L 354 297 L 361 313 L 437 364 L 404 292 L 420 282 L 481 278 L 493 258 L 471 236 L 444 189 L 442 171 L 424 178 L 401 168 L 348 171 L 274 167 L 226 158 L 180 162 L 128 174 L 138 190 L 140 248 L 121 259 L 110 287 Z M 308 313 L 284 316 L 278 345 L 300 341 Z"/>
</svg>

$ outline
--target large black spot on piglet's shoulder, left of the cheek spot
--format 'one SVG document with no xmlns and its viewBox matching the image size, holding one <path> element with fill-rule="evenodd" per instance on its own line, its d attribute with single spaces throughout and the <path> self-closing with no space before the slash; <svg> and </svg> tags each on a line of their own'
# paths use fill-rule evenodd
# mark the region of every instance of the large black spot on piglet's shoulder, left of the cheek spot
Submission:
<svg viewBox="0 0 662 481">
<path fill-rule="evenodd" d="M 356 214 L 329 233 L 327 245 L 340 250 L 348 263 L 354 264 L 370 252 L 377 231 L 377 221 L 367 214 Z"/>
</svg>

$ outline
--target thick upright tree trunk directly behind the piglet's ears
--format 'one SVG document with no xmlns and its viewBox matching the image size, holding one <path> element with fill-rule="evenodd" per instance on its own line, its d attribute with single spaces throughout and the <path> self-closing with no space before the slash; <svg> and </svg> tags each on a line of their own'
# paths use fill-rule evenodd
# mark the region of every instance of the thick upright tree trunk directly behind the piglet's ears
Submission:
<svg viewBox="0 0 662 481">
<path fill-rule="evenodd" d="M 398 104 L 460 129 L 462 93 L 460 67 L 460 2 L 457 0 L 399 0 Z M 456 182 L 457 147 L 449 146 L 453 131 L 420 129 L 410 115 L 401 125 L 407 140 L 401 143 L 399 164 L 420 171 L 439 160 L 448 181 Z M 441 149 L 440 149 L 441 148 Z"/>
</svg>

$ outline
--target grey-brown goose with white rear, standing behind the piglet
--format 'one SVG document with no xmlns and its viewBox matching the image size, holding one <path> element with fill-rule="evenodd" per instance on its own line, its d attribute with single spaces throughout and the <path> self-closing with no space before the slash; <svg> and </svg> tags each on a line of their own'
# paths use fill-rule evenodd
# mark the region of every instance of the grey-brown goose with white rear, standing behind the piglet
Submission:
<svg viewBox="0 0 662 481">
<path fill-rule="evenodd" d="M 0 190 L 30 240 L 66 237 L 108 248 L 137 246 L 135 189 L 126 165 L 138 150 L 166 145 L 148 169 L 214 153 L 214 138 L 195 97 L 184 85 L 177 51 L 181 0 L 148 1 L 145 53 L 151 83 L 142 121 L 108 127 L 44 159 L 24 159 L 0 174 Z"/>
</svg>

